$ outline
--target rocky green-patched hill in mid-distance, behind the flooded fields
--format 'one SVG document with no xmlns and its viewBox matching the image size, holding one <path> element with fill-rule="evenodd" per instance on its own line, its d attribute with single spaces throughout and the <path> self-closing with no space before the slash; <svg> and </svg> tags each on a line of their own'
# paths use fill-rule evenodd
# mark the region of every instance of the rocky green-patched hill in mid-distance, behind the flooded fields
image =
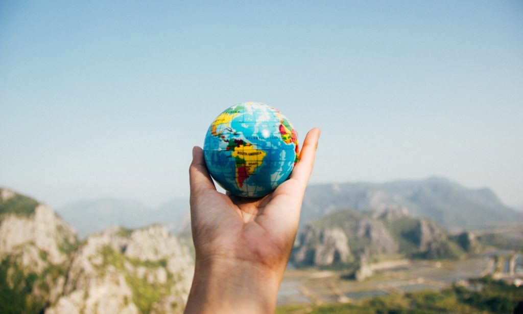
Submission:
<svg viewBox="0 0 523 314">
<path fill-rule="evenodd" d="M 308 223 L 292 252 L 295 266 L 361 266 L 401 255 L 416 259 L 456 259 L 477 253 L 470 232 L 450 235 L 405 208 L 359 212 L 344 209 Z"/>
</svg>

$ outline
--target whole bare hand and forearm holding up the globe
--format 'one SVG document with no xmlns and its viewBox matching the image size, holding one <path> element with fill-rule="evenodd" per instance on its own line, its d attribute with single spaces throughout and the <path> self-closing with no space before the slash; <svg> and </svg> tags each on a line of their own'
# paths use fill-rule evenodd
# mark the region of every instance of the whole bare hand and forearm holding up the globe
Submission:
<svg viewBox="0 0 523 314">
<path fill-rule="evenodd" d="M 186 313 L 271 313 L 298 230 L 320 129 L 307 133 L 289 180 L 262 198 L 218 192 L 203 150 L 189 168 L 195 275 Z"/>
</svg>

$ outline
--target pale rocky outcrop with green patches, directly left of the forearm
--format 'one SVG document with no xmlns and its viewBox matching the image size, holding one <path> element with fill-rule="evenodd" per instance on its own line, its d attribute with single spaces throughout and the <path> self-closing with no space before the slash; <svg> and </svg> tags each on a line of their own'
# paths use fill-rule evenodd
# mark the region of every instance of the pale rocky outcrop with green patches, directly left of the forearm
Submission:
<svg viewBox="0 0 523 314">
<path fill-rule="evenodd" d="M 74 254 L 64 295 L 46 313 L 181 312 L 193 268 L 164 227 L 109 228 Z"/>
</svg>

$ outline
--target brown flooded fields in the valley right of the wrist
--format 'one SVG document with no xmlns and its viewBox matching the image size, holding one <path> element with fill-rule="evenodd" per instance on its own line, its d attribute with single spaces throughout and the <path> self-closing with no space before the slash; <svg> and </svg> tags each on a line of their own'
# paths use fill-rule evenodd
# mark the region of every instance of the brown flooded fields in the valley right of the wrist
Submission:
<svg viewBox="0 0 523 314">
<path fill-rule="evenodd" d="M 289 268 L 283 276 L 278 305 L 329 304 L 384 296 L 392 292 L 440 290 L 453 282 L 480 277 L 492 268 L 490 257 L 463 261 L 407 261 L 401 266 L 376 271 L 363 282 L 342 279 L 343 271 Z"/>
</svg>

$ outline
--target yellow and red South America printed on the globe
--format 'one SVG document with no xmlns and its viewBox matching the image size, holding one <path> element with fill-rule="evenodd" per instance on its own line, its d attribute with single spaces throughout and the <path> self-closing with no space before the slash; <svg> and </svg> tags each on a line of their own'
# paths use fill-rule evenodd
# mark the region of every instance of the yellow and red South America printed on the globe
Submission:
<svg viewBox="0 0 523 314">
<path fill-rule="evenodd" d="M 249 143 L 241 143 L 234 148 L 231 155 L 236 159 L 236 183 L 241 188 L 245 180 L 261 165 L 267 153 L 255 149 Z"/>
</svg>

